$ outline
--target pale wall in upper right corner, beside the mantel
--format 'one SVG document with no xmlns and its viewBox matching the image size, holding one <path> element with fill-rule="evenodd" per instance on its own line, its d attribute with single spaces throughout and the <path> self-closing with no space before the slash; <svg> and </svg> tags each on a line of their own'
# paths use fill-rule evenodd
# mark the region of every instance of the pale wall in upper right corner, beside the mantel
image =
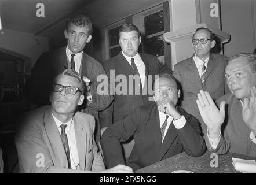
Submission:
<svg viewBox="0 0 256 185">
<path fill-rule="evenodd" d="M 224 45 L 224 54 L 252 53 L 255 43 L 255 0 L 224 0 L 221 2 L 222 31 L 231 35 Z"/>
</svg>

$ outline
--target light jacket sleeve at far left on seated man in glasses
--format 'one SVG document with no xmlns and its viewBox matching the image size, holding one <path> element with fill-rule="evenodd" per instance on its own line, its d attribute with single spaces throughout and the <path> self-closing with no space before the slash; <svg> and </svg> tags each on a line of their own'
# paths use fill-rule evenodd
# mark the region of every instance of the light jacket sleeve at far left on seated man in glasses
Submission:
<svg viewBox="0 0 256 185">
<path fill-rule="evenodd" d="M 15 144 L 20 173 L 90 173 L 54 166 L 50 151 L 42 140 L 36 119 L 23 116 L 18 120 Z M 97 151 L 97 150 L 96 150 Z"/>
</svg>

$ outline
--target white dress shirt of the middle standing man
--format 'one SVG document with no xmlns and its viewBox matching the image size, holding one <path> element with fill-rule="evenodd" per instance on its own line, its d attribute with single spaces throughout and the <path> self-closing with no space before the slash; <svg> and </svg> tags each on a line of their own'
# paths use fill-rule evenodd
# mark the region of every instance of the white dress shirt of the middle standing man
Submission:
<svg viewBox="0 0 256 185">
<path fill-rule="evenodd" d="M 145 67 L 145 64 L 142 61 L 140 55 L 137 53 L 133 57 L 128 57 L 128 56 L 125 55 L 125 53 L 123 53 L 123 51 L 122 51 L 122 54 L 126 58 L 126 60 L 129 62 L 130 65 L 131 65 L 131 58 L 134 58 L 134 63 L 137 66 L 138 73 L 140 74 L 141 84 L 142 84 L 142 88 L 143 88 L 144 84 L 145 84 L 146 67 Z"/>
</svg>

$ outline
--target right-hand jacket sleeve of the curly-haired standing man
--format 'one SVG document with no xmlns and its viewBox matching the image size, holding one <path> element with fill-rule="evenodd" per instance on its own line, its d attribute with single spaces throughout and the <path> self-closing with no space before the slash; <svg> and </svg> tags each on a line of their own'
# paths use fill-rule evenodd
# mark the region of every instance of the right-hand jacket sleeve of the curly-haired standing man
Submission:
<svg viewBox="0 0 256 185">
<path fill-rule="evenodd" d="M 92 103 L 88 104 L 90 108 L 101 111 L 111 104 L 113 101 L 113 96 L 109 93 L 109 83 L 105 82 L 107 80 L 107 75 L 101 64 L 94 64 L 92 69 L 92 79 L 93 83 L 90 85 L 90 90 L 92 92 Z M 101 77 L 104 77 L 100 81 Z"/>
</svg>

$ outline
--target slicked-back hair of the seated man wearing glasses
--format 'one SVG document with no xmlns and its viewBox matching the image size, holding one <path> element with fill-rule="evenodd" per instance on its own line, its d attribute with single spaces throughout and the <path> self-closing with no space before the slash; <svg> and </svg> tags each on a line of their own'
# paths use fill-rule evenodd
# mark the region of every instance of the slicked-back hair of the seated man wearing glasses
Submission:
<svg viewBox="0 0 256 185">
<path fill-rule="evenodd" d="M 86 84 L 83 81 L 83 77 L 76 71 L 72 70 L 72 69 L 65 69 L 64 71 L 61 71 L 55 78 L 54 78 L 54 83 L 57 80 L 57 77 L 59 75 L 65 75 L 65 76 L 70 76 L 70 77 L 74 77 L 76 80 L 78 80 L 78 83 L 80 84 L 80 90 L 83 92 L 83 95 L 87 95 L 87 88 L 86 88 Z"/>
</svg>

